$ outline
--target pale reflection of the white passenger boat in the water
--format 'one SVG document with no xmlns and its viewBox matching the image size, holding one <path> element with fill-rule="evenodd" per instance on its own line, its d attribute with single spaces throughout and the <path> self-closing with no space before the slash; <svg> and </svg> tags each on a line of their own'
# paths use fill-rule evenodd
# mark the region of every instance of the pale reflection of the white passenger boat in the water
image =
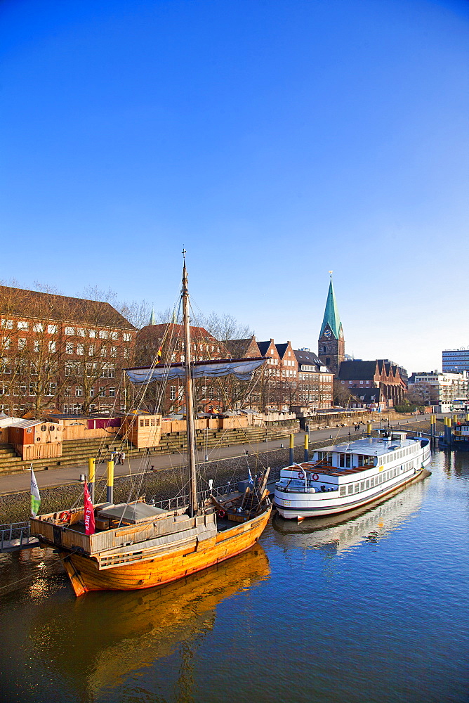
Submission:
<svg viewBox="0 0 469 703">
<path fill-rule="evenodd" d="M 425 477 L 429 474 L 425 472 Z M 377 542 L 389 536 L 420 510 L 424 491 L 425 481 L 421 479 L 399 489 L 391 498 L 357 510 L 301 523 L 276 515 L 272 524 L 286 547 L 334 548 L 341 553 L 362 542 Z"/>
</svg>

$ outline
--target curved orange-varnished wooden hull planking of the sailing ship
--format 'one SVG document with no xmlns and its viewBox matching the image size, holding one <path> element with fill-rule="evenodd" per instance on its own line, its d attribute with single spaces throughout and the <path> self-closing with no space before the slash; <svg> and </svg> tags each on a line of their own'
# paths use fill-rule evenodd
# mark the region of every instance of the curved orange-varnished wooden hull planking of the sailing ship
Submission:
<svg viewBox="0 0 469 703">
<path fill-rule="evenodd" d="M 60 550 L 60 557 L 70 578 L 75 595 L 87 591 L 133 591 L 170 583 L 184 576 L 211 567 L 249 549 L 263 533 L 270 517 L 268 508 L 262 515 L 236 524 L 215 537 L 197 541 L 183 548 L 124 564 L 99 569 L 92 557 Z"/>
</svg>

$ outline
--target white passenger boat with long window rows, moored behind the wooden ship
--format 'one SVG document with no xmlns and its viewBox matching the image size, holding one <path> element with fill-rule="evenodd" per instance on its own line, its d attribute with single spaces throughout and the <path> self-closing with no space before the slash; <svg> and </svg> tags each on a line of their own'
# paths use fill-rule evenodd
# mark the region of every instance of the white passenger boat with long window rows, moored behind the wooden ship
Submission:
<svg viewBox="0 0 469 703">
<path fill-rule="evenodd" d="M 416 479 L 430 458 L 430 440 L 406 432 L 325 446 L 281 470 L 275 507 L 286 520 L 354 510 Z"/>
</svg>

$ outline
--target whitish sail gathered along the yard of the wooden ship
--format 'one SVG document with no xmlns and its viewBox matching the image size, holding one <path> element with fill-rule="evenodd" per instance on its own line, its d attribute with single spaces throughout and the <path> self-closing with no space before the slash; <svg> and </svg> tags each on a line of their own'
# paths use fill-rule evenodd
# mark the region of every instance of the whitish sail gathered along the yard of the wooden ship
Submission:
<svg viewBox="0 0 469 703">
<path fill-rule="evenodd" d="M 241 381 L 249 381 L 253 372 L 265 359 L 216 359 L 214 361 L 194 361 L 190 366 L 192 378 L 218 378 L 232 373 Z M 133 383 L 151 383 L 158 380 L 185 378 L 186 366 L 183 363 L 158 364 L 140 368 L 126 368 L 126 374 Z"/>
</svg>

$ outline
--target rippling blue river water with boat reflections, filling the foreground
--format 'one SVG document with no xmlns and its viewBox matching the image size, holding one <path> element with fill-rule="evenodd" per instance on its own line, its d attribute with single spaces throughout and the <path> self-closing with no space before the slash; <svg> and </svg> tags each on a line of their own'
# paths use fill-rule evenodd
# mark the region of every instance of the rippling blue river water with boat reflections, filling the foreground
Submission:
<svg viewBox="0 0 469 703">
<path fill-rule="evenodd" d="M 1 702 L 467 703 L 469 453 L 430 469 L 150 591 L 77 599 L 52 553 L 0 555 Z"/>
</svg>

